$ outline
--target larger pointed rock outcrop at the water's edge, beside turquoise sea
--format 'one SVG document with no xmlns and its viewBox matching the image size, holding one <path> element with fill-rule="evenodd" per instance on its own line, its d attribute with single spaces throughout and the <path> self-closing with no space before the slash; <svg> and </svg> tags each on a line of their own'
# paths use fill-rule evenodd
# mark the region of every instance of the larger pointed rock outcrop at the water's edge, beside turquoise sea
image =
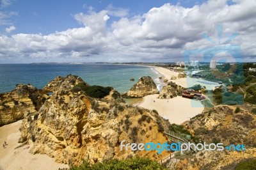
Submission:
<svg viewBox="0 0 256 170">
<path fill-rule="evenodd" d="M 123 95 L 126 98 L 139 98 L 159 93 L 155 82 L 149 76 L 140 77 L 139 81 Z"/>
</svg>

